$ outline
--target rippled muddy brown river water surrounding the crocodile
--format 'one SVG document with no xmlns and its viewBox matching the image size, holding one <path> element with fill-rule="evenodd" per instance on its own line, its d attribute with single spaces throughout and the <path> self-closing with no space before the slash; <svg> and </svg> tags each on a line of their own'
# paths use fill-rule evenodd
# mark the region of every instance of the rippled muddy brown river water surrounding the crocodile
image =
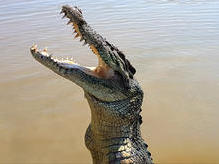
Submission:
<svg viewBox="0 0 219 164">
<path fill-rule="evenodd" d="M 95 66 L 73 40 L 64 4 L 136 67 L 144 92 L 142 136 L 155 163 L 219 163 L 218 0 L 0 1 L 0 163 L 91 163 L 83 91 L 36 62 L 37 43 Z"/>
</svg>

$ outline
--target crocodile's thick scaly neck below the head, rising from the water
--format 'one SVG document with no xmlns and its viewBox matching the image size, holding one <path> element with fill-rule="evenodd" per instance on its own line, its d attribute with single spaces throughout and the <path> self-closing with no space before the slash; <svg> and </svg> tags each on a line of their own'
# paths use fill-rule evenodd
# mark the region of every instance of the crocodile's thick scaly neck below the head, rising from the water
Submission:
<svg viewBox="0 0 219 164">
<path fill-rule="evenodd" d="M 129 111 L 126 106 L 129 100 L 110 104 L 97 102 L 87 93 L 85 97 L 91 109 L 91 123 L 85 134 L 85 144 L 91 152 L 93 163 L 116 163 L 119 159 L 124 163 L 152 163 L 150 153 L 146 150 L 147 144 L 141 137 L 140 115 L 133 117 L 133 114 L 124 112 Z M 114 108 L 113 112 L 110 105 Z M 115 113 L 115 108 L 118 113 Z M 136 106 L 130 112 L 133 110 L 140 113 L 141 108 Z"/>
</svg>

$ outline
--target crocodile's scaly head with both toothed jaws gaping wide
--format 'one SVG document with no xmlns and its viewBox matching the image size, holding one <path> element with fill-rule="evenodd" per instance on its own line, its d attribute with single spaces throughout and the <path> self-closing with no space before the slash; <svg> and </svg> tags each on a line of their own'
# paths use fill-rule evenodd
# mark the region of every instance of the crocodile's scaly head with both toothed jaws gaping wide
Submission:
<svg viewBox="0 0 219 164">
<path fill-rule="evenodd" d="M 80 38 L 98 58 L 97 67 L 85 67 L 70 59 L 56 59 L 47 49 L 42 51 L 36 45 L 30 48 L 32 56 L 55 73 L 71 80 L 88 93 L 102 101 L 118 101 L 141 92 L 133 78 L 135 68 L 125 55 L 101 35 L 97 34 L 85 21 L 77 7 L 63 6 L 61 13 L 73 26 L 75 38 Z"/>
</svg>

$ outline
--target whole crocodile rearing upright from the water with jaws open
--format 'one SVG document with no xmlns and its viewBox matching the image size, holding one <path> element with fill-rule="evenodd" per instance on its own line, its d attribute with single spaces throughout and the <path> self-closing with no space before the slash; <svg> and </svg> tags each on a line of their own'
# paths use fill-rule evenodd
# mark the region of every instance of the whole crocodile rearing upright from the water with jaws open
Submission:
<svg viewBox="0 0 219 164">
<path fill-rule="evenodd" d="M 143 91 L 134 78 L 135 68 L 122 51 L 88 25 L 81 9 L 65 5 L 60 13 L 68 18 L 75 38 L 97 56 L 98 66 L 57 59 L 35 44 L 30 52 L 38 62 L 84 90 L 91 109 L 84 140 L 93 163 L 152 164 L 148 145 L 141 137 Z"/>
</svg>

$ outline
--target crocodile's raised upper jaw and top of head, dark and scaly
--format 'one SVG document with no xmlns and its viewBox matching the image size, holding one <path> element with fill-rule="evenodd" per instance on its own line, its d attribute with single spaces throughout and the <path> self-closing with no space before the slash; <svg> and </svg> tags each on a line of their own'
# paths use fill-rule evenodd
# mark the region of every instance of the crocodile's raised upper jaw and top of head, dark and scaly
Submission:
<svg viewBox="0 0 219 164">
<path fill-rule="evenodd" d="M 69 18 L 67 24 L 73 24 L 76 36 L 84 44 L 89 44 L 90 48 L 97 55 L 101 71 L 96 72 L 103 78 L 108 78 L 108 70 L 115 71 L 121 75 L 123 84 L 126 88 L 130 87 L 130 79 L 133 79 L 135 68 L 125 58 L 125 55 L 114 45 L 106 41 L 101 35 L 97 34 L 84 20 L 82 12 L 77 7 L 63 6 L 61 13 L 63 17 Z M 103 73 L 102 73 L 103 72 Z M 103 74 L 103 75 L 102 75 Z"/>
</svg>

